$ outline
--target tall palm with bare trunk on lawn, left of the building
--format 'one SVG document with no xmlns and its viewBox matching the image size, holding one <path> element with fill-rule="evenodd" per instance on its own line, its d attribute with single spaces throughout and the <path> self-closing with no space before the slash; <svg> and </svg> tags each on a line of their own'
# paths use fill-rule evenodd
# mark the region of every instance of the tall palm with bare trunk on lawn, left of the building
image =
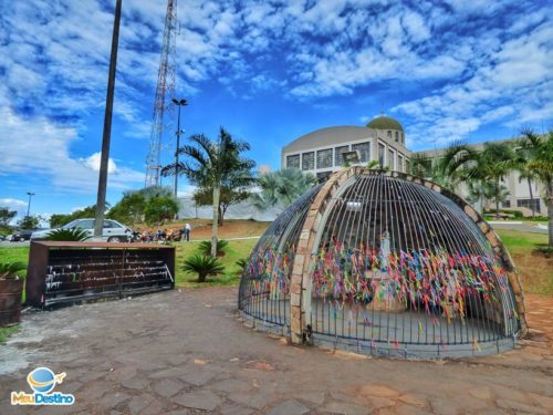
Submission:
<svg viewBox="0 0 553 415">
<path fill-rule="evenodd" d="M 209 187 L 213 190 L 213 224 L 211 231 L 211 256 L 217 256 L 217 232 L 219 226 L 219 199 L 225 179 L 234 176 L 234 183 L 248 186 L 254 181 L 251 169 L 255 162 L 242 157 L 250 149 L 250 144 L 232 138 L 220 128 L 217 141 L 211 141 L 204 134 L 195 134 L 190 145 L 180 147 L 177 152 L 185 156 L 178 165 L 171 164 L 161 169 L 161 175 L 173 176 L 184 174 L 191 184 L 198 187 Z M 237 178 L 236 176 L 240 176 Z"/>
</svg>

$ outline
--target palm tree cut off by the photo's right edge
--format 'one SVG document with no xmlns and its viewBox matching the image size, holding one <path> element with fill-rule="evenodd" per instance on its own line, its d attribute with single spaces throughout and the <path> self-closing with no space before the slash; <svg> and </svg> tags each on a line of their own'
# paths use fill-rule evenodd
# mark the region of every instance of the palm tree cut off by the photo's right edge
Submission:
<svg viewBox="0 0 553 415">
<path fill-rule="evenodd" d="M 524 131 L 522 148 L 530 153 L 528 169 L 545 187 L 549 217 L 549 246 L 553 247 L 553 131 L 539 136 L 532 131 Z"/>
</svg>

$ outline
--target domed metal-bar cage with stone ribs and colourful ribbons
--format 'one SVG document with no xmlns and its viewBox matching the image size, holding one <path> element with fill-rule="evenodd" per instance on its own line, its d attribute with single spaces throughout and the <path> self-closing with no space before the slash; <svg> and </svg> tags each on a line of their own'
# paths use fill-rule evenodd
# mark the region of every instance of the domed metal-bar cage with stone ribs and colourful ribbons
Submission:
<svg viewBox="0 0 553 415">
<path fill-rule="evenodd" d="M 526 332 L 512 260 L 472 207 L 430 181 L 359 167 L 271 225 L 239 309 L 294 343 L 400 357 L 499 353 Z"/>
</svg>

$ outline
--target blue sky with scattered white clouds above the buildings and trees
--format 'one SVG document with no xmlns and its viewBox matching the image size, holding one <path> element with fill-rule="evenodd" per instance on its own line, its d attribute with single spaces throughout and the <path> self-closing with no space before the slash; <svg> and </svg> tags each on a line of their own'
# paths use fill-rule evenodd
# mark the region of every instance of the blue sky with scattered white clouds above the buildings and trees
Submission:
<svg viewBox="0 0 553 415">
<path fill-rule="evenodd" d="M 0 0 L 0 205 L 95 203 L 114 0 Z M 123 0 L 107 199 L 144 184 L 164 0 Z M 182 128 L 259 165 L 385 112 L 411 149 L 553 126 L 551 1 L 178 1 Z M 175 131 L 175 127 L 170 127 Z M 175 139 L 164 142 L 168 162 Z M 165 179 L 169 184 L 169 179 Z M 189 191 L 185 179 L 179 189 Z"/>
</svg>

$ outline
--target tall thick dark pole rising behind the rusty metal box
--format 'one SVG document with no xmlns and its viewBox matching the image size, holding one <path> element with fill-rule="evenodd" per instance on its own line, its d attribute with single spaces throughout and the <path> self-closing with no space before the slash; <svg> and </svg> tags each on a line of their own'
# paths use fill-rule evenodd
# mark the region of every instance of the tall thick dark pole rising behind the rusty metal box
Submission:
<svg viewBox="0 0 553 415">
<path fill-rule="evenodd" d="M 94 221 L 94 239 L 102 238 L 104 229 L 105 194 L 107 187 L 107 162 L 109 160 L 109 142 L 112 138 L 113 94 L 115 90 L 115 69 L 117 65 L 117 45 L 119 43 L 121 3 L 116 0 L 113 22 L 112 54 L 109 56 L 109 75 L 105 98 L 104 134 L 102 137 L 102 158 L 100 162 L 98 195 L 96 198 L 96 217 Z"/>
</svg>

